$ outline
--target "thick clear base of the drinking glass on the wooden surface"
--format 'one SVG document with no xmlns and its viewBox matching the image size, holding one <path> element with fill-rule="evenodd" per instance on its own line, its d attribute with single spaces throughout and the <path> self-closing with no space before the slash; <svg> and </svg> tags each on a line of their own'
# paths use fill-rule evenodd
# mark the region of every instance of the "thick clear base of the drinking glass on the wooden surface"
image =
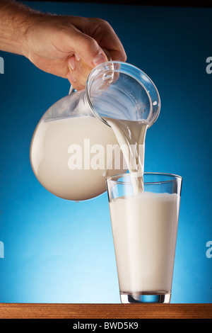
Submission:
<svg viewBox="0 0 212 333">
<path fill-rule="evenodd" d="M 170 303 L 171 293 L 120 293 L 122 303 Z"/>
</svg>

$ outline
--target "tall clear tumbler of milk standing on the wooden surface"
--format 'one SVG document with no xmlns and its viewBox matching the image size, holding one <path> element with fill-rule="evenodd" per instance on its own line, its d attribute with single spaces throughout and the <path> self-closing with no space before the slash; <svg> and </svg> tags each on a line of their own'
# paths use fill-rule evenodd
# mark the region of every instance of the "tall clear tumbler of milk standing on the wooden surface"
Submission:
<svg viewBox="0 0 212 333">
<path fill-rule="evenodd" d="M 122 303 L 170 303 L 181 187 L 174 174 L 107 178 Z"/>
</svg>

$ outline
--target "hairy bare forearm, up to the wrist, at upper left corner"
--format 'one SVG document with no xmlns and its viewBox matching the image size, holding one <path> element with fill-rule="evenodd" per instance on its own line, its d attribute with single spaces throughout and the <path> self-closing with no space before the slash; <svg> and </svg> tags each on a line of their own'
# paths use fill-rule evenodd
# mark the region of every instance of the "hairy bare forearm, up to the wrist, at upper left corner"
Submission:
<svg viewBox="0 0 212 333">
<path fill-rule="evenodd" d="M 16 1 L 0 0 L 0 50 L 24 55 L 25 35 L 37 15 Z"/>
</svg>

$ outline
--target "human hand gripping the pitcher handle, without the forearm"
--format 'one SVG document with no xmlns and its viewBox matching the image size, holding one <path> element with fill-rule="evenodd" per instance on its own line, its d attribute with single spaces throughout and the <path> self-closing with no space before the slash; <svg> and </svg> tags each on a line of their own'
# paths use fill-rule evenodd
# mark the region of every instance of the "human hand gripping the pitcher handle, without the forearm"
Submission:
<svg viewBox="0 0 212 333">
<path fill-rule="evenodd" d="M 100 18 L 33 17 L 23 39 L 23 54 L 45 72 L 69 79 L 83 89 L 91 69 L 107 61 L 126 61 L 124 47 L 107 21 Z M 105 50 L 105 52 L 103 51 Z"/>
</svg>

